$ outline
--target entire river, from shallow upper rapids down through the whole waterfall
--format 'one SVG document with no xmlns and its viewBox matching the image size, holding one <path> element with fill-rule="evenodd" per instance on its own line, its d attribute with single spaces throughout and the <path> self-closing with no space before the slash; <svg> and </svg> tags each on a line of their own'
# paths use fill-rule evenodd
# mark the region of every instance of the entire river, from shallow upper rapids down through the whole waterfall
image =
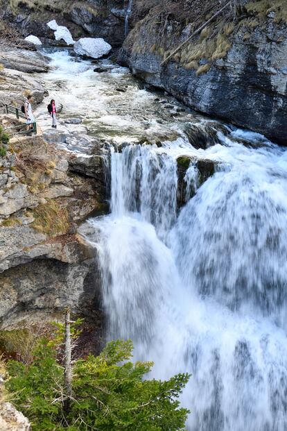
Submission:
<svg viewBox="0 0 287 431">
<path fill-rule="evenodd" d="M 51 62 L 63 117 L 114 142 L 111 214 L 89 220 L 107 337 L 132 338 L 157 378 L 191 373 L 189 430 L 287 430 L 286 150 L 140 89 L 107 60 L 103 74 L 65 52 Z M 193 162 L 179 210 L 181 155 Z M 198 159 L 216 167 L 202 184 Z"/>
</svg>

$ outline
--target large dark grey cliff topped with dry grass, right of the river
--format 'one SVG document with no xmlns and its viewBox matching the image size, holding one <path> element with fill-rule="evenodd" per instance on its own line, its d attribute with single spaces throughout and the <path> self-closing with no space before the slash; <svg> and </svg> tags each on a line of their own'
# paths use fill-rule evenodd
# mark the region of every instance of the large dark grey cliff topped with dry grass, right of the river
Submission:
<svg viewBox="0 0 287 431">
<path fill-rule="evenodd" d="M 287 144 L 286 3 L 253 1 L 235 20 L 218 17 L 163 63 L 212 15 L 203 8 L 196 23 L 188 15 L 182 19 L 185 3 L 177 2 L 176 10 L 155 6 L 146 12 L 125 40 L 119 62 L 195 110 Z"/>
</svg>

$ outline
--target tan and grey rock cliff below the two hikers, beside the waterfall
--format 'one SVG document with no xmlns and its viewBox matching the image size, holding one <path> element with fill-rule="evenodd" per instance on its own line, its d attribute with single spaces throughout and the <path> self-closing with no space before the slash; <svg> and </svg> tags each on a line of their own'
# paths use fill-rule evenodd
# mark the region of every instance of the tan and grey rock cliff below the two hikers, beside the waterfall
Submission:
<svg viewBox="0 0 287 431">
<path fill-rule="evenodd" d="M 85 176 L 88 158 L 81 163 L 41 137 L 12 140 L 10 151 L 0 158 L 0 323 L 67 305 L 91 314 L 98 307 L 96 255 L 77 223 L 105 208 L 101 156 L 92 157 Z"/>
</svg>

